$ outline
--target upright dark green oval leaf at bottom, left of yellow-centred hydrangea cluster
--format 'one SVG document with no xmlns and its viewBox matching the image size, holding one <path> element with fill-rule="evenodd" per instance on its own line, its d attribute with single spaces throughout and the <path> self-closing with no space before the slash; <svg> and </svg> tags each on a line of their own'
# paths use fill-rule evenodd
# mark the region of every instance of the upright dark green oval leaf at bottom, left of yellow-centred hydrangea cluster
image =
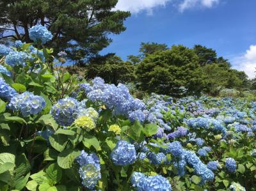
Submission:
<svg viewBox="0 0 256 191">
<path fill-rule="evenodd" d="M 51 182 L 51 185 L 55 185 L 61 180 L 62 170 L 57 164 L 51 164 L 46 169 L 46 178 Z"/>
</svg>

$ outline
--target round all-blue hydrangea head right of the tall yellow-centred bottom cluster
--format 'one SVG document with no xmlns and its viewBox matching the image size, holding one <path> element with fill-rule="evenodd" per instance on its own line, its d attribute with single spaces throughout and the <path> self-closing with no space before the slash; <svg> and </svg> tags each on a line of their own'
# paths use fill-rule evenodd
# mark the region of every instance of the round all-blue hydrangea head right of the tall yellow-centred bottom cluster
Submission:
<svg viewBox="0 0 256 191">
<path fill-rule="evenodd" d="M 115 165 L 129 165 L 136 160 L 136 150 L 127 141 L 118 141 L 111 153 L 111 159 Z"/>
</svg>

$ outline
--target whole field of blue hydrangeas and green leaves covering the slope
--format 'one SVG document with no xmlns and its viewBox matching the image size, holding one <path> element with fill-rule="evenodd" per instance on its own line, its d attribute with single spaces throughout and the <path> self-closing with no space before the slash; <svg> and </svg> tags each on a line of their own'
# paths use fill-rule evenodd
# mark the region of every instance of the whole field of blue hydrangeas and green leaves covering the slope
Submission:
<svg viewBox="0 0 256 191">
<path fill-rule="evenodd" d="M 29 37 L 0 45 L 1 191 L 256 190 L 256 102 L 140 100 L 62 72 L 45 27 Z"/>
</svg>

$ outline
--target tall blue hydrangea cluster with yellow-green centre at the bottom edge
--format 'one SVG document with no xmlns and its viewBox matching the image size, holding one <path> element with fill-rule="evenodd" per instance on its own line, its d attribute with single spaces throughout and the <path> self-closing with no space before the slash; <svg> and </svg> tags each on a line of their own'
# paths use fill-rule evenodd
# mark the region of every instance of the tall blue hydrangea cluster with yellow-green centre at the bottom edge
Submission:
<svg viewBox="0 0 256 191">
<path fill-rule="evenodd" d="M 93 189 L 101 178 L 99 157 L 97 157 L 95 153 L 89 155 L 83 150 L 76 160 L 80 165 L 79 174 L 83 186 L 88 189 Z"/>
</svg>

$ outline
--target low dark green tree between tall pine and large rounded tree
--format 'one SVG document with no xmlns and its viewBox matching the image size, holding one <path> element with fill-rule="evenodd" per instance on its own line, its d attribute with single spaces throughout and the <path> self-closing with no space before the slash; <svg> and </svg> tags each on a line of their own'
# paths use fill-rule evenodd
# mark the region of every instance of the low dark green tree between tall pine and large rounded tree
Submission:
<svg viewBox="0 0 256 191">
<path fill-rule="evenodd" d="M 106 62 L 92 61 L 87 67 L 86 77 L 93 79 L 102 77 L 105 82 L 118 84 L 120 82 L 132 82 L 134 80 L 135 66 L 129 61 L 123 61 L 118 56 L 109 56 Z"/>
</svg>

